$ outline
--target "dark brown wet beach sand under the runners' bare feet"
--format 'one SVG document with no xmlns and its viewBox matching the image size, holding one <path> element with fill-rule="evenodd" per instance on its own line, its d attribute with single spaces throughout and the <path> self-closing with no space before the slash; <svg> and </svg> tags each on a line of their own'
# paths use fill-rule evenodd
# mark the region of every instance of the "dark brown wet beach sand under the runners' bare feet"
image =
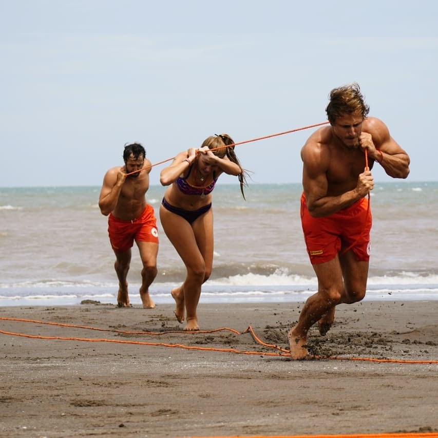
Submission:
<svg viewBox="0 0 438 438">
<path fill-rule="evenodd" d="M 243 333 L 251 326 L 288 349 L 301 307 L 201 297 L 202 330 L 238 333 L 181 333 L 170 304 L 1 308 L 2 318 L 53 324 L 0 320 L 0 436 L 438 431 L 438 301 L 339 306 L 326 336 L 311 330 L 314 360 L 292 361 Z"/>
</svg>

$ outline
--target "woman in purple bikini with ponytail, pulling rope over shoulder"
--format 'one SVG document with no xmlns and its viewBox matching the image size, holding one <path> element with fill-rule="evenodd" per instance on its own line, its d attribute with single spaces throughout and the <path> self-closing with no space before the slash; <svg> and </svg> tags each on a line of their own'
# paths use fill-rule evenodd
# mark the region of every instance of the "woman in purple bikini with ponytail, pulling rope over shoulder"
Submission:
<svg viewBox="0 0 438 438">
<path fill-rule="evenodd" d="M 186 320 L 184 330 L 199 330 L 196 309 L 201 286 L 212 272 L 216 181 L 222 173 L 238 176 L 242 195 L 246 184 L 245 171 L 230 145 L 234 141 L 227 134 L 208 137 L 200 149 L 179 153 L 160 174 L 161 184 L 169 186 L 160 206 L 161 225 L 187 269 L 184 282 L 172 290 L 175 316 L 179 322 Z"/>
</svg>

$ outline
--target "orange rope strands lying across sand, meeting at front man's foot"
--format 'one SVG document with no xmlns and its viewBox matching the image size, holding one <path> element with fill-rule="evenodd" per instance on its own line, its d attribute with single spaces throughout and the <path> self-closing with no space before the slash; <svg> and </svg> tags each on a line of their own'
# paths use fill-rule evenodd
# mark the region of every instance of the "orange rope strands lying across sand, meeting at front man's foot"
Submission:
<svg viewBox="0 0 438 438">
<path fill-rule="evenodd" d="M 192 346 L 186 346 L 183 344 L 165 344 L 164 342 L 144 342 L 144 341 L 129 341 L 129 340 L 118 340 L 118 339 L 90 339 L 90 338 L 79 338 L 79 337 L 62 337 L 62 336 L 41 336 L 41 335 L 29 335 L 24 333 L 14 333 L 14 332 L 7 332 L 4 330 L 0 330 L 0 333 L 4 335 L 10 335 L 10 336 L 21 336 L 21 337 L 27 337 L 32 339 L 58 339 L 58 340 L 76 340 L 76 341 L 88 341 L 88 342 L 115 342 L 117 344 L 135 344 L 135 345 L 147 345 L 147 346 L 155 346 L 155 347 L 169 347 L 169 348 L 183 348 L 187 350 L 202 350 L 202 351 L 219 351 L 223 353 L 236 353 L 236 354 L 247 354 L 247 355 L 259 355 L 259 356 L 281 356 L 281 357 L 290 357 L 290 351 L 287 349 L 283 349 L 281 347 L 278 347 L 277 345 L 273 344 L 266 344 L 263 342 L 254 332 L 253 328 L 249 326 L 245 331 L 242 333 L 230 329 L 227 327 L 223 327 L 220 329 L 213 329 L 213 330 L 198 330 L 198 331 L 177 331 L 177 330 L 171 330 L 166 332 L 131 332 L 131 331 L 122 331 L 122 330 L 116 330 L 116 329 L 99 329 L 95 327 L 87 327 L 87 326 L 77 326 L 72 324 L 65 324 L 60 322 L 45 322 L 45 321 L 37 321 L 32 319 L 21 319 L 21 318 L 7 318 L 7 317 L 0 317 L 0 320 L 5 321 L 18 321 L 18 322 L 30 322 L 30 323 L 36 323 L 36 324 L 47 324 L 51 326 L 59 326 L 59 327 L 66 327 L 66 328 L 80 328 L 80 329 L 87 329 L 87 330 L 98 330 L 98 331 L 106 331 L 106 332 L 113 332 L 113 333 L 123 333 L 123 334 L 150 334 L 150 335 L 163 335 L 163 334 L 169 334 L 169 333 L 178 333 L 178 334 L 186 334 L 186 335 L 194 335 L 194 334 L 204 334 L 204 333 L 215 333 L 218 331 L 231 331 L 232 333 L 235 333 L 237 335 L 242 335 L 245 333 L 250 333 L 255 342 L 263 347 L 272 348 L 275 350 L 279 350 L 279 352 L 275 353 L 269 353 L 266 351 L 242 351 L 242 350 L 236 350 L 233 348 L 213 348 L 213 347 L 192 347 Z M 400 360 L 400 359 L 374 359 L 371 357 L 339 357 L 339 356 L 312 356 L 311 359 L 331 359 L 331 360 L 360 360 L 360 361 L 369 361 L 369 362 L 379 362 L 379 363 L 397 363 L 397 364 L 438 364 L 438 360 Z"/>
</svg>

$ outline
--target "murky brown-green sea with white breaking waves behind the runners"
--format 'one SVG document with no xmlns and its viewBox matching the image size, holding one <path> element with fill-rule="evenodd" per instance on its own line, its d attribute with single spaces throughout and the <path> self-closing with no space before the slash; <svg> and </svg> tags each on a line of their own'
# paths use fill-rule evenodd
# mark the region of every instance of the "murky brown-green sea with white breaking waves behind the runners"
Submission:
<svg viewBox="0 0 438 438">
<path fill-rule="evenodd" d="M 301 184 L 220 182 L 213 194 L 215 258 L 202 302 L 302 301 L 317 288 L 299 219 Z M 118 283 L 100 187 L 0 188 L 0 306 L 116 303 Z M 184 266 L 162 231 L 164 187 L 151 186 L 159 227 L 150 293 L 172 302 Z M 438 182 L 376 183 L 366 299 L 438 299 Z M 141 263 L 132 250 L 129 297 L 140 304 Z"/>
</svg>

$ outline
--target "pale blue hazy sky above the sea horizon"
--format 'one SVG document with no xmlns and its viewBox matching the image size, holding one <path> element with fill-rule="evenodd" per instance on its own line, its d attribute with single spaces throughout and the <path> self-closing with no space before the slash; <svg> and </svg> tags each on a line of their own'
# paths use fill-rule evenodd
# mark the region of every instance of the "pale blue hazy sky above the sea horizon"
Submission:
<svg viewBox="0 0 438 438">
<path fill-rule="evenodd" d="M 0 187 L 100 186 L 126 142 L 155 164 L 213 134 L 325 122 L 330 90 L 354 81 L 409 153 L 409 180 L 437 180 L 437 4 L 0 0 Z M 300 182 L 313 131 L 236 153 L 254 183 Z"/>
</svg>

